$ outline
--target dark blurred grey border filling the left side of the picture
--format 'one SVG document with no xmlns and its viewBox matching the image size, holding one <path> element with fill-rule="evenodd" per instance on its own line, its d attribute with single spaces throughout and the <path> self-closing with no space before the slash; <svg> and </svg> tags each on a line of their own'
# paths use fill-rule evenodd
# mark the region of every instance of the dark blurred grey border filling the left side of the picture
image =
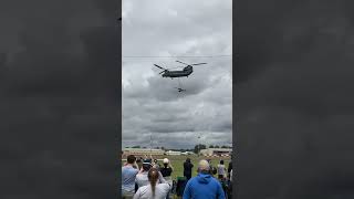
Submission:
<svg viewBox="0 0 354 199">
<path fill-rule="evenodd" d="M 1 198 L 112 198 L 119 32 L 92 1 L 0 8 Z"/>
</svg>

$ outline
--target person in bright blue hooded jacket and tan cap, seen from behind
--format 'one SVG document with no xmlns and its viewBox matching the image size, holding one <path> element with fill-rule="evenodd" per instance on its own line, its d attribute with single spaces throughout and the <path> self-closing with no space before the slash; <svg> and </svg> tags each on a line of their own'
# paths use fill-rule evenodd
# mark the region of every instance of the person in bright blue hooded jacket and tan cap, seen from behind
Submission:
<svg viewBox="0 0 354 199">
<path fill-rule="evenodd" d="M 188 180 L 184 199 L 225 199 L 221 184 L 210 175 L 210 166 L 207 160 L 200 160 L 198 175 Z"/>
</svg>

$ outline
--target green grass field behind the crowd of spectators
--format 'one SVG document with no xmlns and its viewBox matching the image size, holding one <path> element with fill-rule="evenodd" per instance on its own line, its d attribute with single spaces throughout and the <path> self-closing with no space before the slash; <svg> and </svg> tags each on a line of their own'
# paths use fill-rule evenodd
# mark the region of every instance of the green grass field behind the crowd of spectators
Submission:
<svg viewBox="0 0 354 199">
<path fill-rule="evenodd" d="M 211 159 L 211 165 L 217 166 L 221 159 L 225 161 L 226 168 L 229 166 L 230 158 L 226 157 L 202 157 L 202 156 L 196 156 L 196 155 L 190 155 L 190 156 L 156 156 L 154 158 L 159 159 L 159 165 L 163 166 L 162 159 L 168 158 L 171 163 L 171 166 L 174 167 L 174 172 L 173 172 L 173 179 L 177 179 L 177 177 L 183 177 L 184 176 L 184 163 L 186 158 L 189 157 L 191 160 L 191 164 L 194 165 L 192 168 L 192 177 L 197 175 L 197 167 L 198 167 L 198 161 L 201 159 Z M 122 163 L 125 163 L 126 159 L 123 159 Z"/>
</svg>

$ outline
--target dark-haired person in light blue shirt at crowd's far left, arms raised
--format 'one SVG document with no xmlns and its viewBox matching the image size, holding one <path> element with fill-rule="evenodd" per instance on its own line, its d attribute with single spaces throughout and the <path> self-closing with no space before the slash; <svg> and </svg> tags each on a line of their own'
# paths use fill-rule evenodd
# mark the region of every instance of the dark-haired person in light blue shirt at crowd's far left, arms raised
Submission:
<svg viewBox="0 0 354 199">
<path fill-rule="evenodd" d="M 122 198 L 131 199 L 135 192 L 135 178 L 138 174 L 138 166 L 134 155 L 127 157 L 127 161 L 122 167 Z"/>
</svg>

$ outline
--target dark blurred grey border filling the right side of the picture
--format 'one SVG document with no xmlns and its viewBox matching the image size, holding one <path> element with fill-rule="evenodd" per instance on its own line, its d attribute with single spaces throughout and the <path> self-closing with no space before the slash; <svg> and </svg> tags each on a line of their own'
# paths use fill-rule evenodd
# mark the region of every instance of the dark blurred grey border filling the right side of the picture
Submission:
<svg viewBox="0 0 354 199">
<path fill-rule="evenodd" d="M 354 196 L 354 29 L 315 2 L 238 3 L 240 198 Z"/>
</svg>

